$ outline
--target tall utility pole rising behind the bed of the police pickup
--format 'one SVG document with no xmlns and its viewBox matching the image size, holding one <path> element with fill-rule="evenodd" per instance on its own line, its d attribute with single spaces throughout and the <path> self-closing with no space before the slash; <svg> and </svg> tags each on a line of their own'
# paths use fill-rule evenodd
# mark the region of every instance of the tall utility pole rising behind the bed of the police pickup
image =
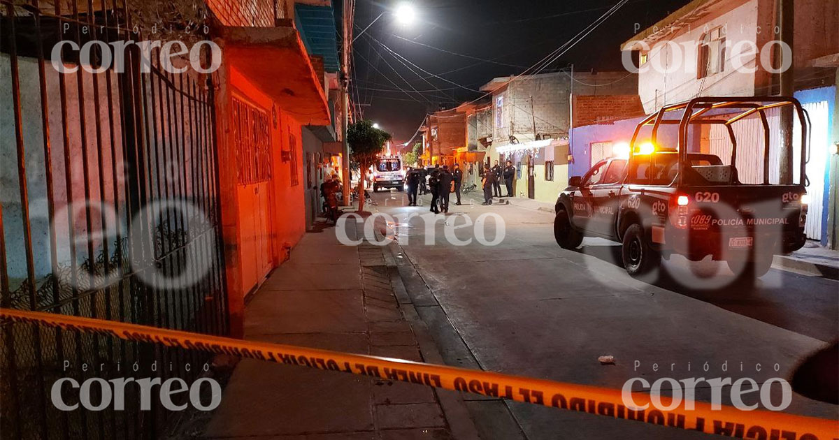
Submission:
<svg viewBox="0 0 839 440">
<path fill-rule="evenodd" d="M 780 73 L 780 94 L 781 96 L 793 96 L 795 93 L 795 50 L 793 50 L 793 32 L 795 30 L 795 0 L 779 0 L 778 23 L 780 26 L 781 44 L 789 47 L 789 69 Z M 779 50 L 779 66 L 784 65 L 787 60 L 781 59 L 784 50 Z M 801 123 L 805 123 L 802 121 Z M 792 184 L 793 178 L 793 108 L 792 106 L 781 107 L 781 142 L 780 142 L 780 173 L 781 184 Z M 805 158 L 801 158 L 805 160 Z M 800 179 L 804 179 L 803 176 Z"/>
</svg>

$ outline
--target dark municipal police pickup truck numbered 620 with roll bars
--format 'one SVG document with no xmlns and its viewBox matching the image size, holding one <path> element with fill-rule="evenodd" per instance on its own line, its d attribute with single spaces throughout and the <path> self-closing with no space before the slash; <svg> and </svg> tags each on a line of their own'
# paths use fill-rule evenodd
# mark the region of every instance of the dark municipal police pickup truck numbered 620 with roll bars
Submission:
<svg viewBox="0 0 839 440">
<path fill-rule="evenodd" d="M 623 144 L 628 151 L 569 180 L 556 200 L 556 242 L 574 249 L 584 236 L 618 241 L 633 277 L 655 272 L 672 254 L 710 255 L 738 277 L 762 277 L 774 255 L 805 244 L 805 161 L 797 170 L 790 163 L 784 177 L 778 142 L 770 141 L 779 136 L 770 122 L 783 107 L 803 127 L 794 156 L 806 158 L 807 118 L 794 98 L 696 98 L 648 116 Z M 661 127 L 677 132 L 664 139 Z M 651 137 L 640 134 L 650 128 Z M 737 133 L 747 133 L 739 143 Z"/>
</svg>

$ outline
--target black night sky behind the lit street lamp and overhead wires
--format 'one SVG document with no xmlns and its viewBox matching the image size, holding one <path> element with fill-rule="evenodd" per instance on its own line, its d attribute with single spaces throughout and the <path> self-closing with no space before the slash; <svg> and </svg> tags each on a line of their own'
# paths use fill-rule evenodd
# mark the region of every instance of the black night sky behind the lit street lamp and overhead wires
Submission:
<svg viewBox="0 0 839 440">
<path fill-rule="evenodd" d="M 399 1 L 358 0 L 355 34 Z M 352 78 L 356 87 L 352 89 L 352 99 L 361 104 L 365 119 L 378 122 L 399 142 L 414 134 L 426 112 L 451 108 L 481 96 L 460 86 L 477 90 L 494 77 L 523 72 L 597 20 L 618 0 L 409 2 L 417 12 L 413 24 L 401 25 L 386 13 L 353 44 Z M 574 70 L 623 70 L 619 45 L 632 37 L 635 23 L 640 23 L 643 30 L 687 3 L 689 0 L 630 0 L 543 72 L 571 64 Z M 367 36 L 404 58 L 399 59 Z M 456 85 L 430 77 L 420 69 Z"/>
</svg>

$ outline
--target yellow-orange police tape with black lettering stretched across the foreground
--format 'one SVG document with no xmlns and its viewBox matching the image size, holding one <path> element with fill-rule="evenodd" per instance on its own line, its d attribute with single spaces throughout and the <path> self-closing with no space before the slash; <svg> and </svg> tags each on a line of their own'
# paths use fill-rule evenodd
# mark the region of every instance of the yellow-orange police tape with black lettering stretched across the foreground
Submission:
<svg viewBox="0 0 839 440">
<path fill-rule="evenodd" d="M 732 406 L 722 406 L 722 409 L 713 410 L 709 403 L 700 401 L 694 402 L 695 409 L 693 410 L 685 409 L 685 401 L 682 401 L 679 406 L 670 411 L 653 409 L 654 406 L 649 406 L 646 411 L 633 411 L 624 406 L 621 391 L 611 388 L 574 385 L 445 365 L 423 364 L 409 360 L 352 355 L 294 345 L 222 338 L 55 313 L 0 308 L 0 318 L 12 322 L 45 324 L 60 329 L 104 334 L 131 341 L 163 344 L 169 347 L 197 349 L 242 358 L 268 360 L 279 364 L 303 365 L 320 370 L 342 371 L 385 380 L 401 380 L 447 390 L 501 397 L 727 437 L 761 440 L 824 440 L 839 436 L 839 422 L 835 420 L 796 416 L 783 412 L 746 412 Z M 633 400 L 636 405 L 642 407 L 651 402 L 650 396 L 644 393 L 634 393 Z M 670 398 L 661 396 L 662 406 L 670 406 L 671 402 Z"/>
</svg>

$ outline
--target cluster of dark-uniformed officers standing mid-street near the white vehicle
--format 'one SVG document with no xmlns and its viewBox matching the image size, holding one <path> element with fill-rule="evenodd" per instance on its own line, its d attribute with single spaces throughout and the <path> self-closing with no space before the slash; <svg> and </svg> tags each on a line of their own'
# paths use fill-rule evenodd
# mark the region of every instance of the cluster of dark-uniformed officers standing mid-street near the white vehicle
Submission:
<svg viewBox="0 0 839 440">
<path fill-rule="evenodd" d="M 425 176 L 428 176 L 428 186 L 425 187 Z M 456 204 L 461 204 L 461 183 L 463 182 L 463 171 L 459 164 L 455 163 L 454 168 L 449 170 L 448 165 L 435 165 L 433 168 L 408 168 L 405 176 L 405 183 L 408 186 L 408 205 L 417 205 L 417 192 L 422 189 L 422 194 L 431 192 L 431 209 L 435 214 L 449 212 L 449 195 L 455 193 Z"/>
</svg>

